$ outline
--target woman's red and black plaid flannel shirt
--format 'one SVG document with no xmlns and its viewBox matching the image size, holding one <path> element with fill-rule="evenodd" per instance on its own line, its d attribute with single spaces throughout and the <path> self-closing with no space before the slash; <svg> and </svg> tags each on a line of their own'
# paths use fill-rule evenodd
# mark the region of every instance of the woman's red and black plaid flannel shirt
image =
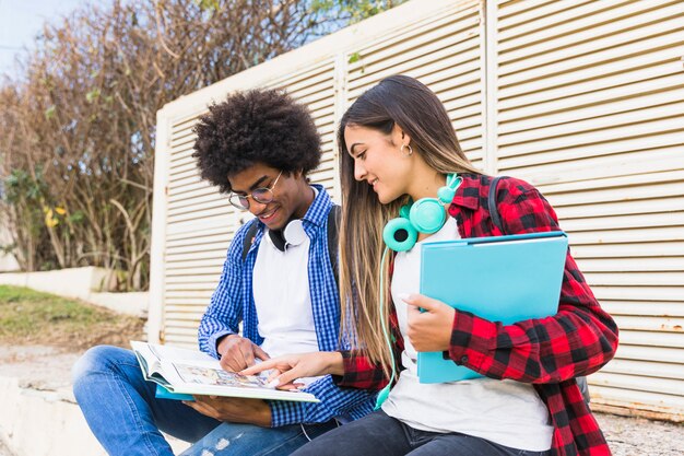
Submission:
<svg viewBox="0 0 684 456">
<path fill-rule="evenodd" d="M 504 234 L 494 226 L 487 210 L 492 178 L 462 177 L 448 208 L 461 237 Z M 503 178 L 496 200 L 506 234 L 561 230 L 549 201 L 522 180 Z M 403 340 L 393 306 L 390 325 L 399 359 Z M 554 426 L 552 454 L 598 456 L 611 451 L 574 377 L 597 372 L 613 358 L 616 348 L 617 327 L 599 306 L 568 252 L 555 316 L 505 326 L 457 309 L 449 356 L 491 378 L 534 384 Z M 344 376 L 338 378 L 339 386 L 380 389 L 387 385 L 382 370 L 363 355 L 342 355 Z"/>
</svg>

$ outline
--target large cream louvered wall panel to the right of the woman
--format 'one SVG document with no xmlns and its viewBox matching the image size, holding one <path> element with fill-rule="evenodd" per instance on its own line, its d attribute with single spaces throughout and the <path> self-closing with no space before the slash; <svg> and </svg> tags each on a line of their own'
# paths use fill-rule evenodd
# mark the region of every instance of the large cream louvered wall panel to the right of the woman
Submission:
<svg viewBox="0 0 684 456">
<path fill-rule="evenodd" d="M 497 169 L 557 211 L 621 328 L 595 405 L 684 413 L 684 2 L 498 8 Z"/>
</svg>

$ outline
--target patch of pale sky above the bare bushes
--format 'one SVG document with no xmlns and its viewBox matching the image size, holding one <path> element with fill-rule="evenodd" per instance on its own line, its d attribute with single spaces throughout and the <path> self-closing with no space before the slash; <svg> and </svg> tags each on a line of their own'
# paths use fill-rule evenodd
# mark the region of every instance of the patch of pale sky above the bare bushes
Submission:
<svg viewBox="0 0 684 456">
<path fill-rule="evenodd" d="M 0 0 L 0 75 L 15 77 L 14 56 L 33 46 L 46 21 L 59 19 L 86 0 Z"/>
</svg>

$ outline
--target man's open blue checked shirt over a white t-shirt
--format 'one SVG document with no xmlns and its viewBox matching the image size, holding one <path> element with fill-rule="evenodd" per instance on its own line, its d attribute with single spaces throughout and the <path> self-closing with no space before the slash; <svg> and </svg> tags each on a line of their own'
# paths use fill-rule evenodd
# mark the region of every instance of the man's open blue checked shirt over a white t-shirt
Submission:
<svg viewBox="0 0 684 456">
<path fill-rule="evenodd" d="M 321 351 L 337 351 L 345 347 L 339 342 L 340 297 L 328 252 L 328 212 L 333 203 L 322 186 L 314 187 L 318 195 L 302 219 L 304 231 L 310 238 L 309 293 L 318 348 Z M 245 236 L 252 223 L 259 223 L 260 226 L 243 261 Z M 244 337 L 256 344 L 263 342 L 257 327 L 259 319 L 252 293 L 252 274 L 263 227 L 258 219 L 246 223 L 237 231 L 228 247 L 221 281 L 199 328 L 200 350 L 214 358 L 219 358 L 216 340 L 228 334 L 237 334 L 240 321 Z M 320 402 L 268 401 L 271 407 L 271 426 L 320 423 L 332 418 L 355 420 L 370 412 L 375 404 L 375 393 L 338 387 L 330 375 L 309 384 L 305 390 L 320 399 Z"/>
</svg>

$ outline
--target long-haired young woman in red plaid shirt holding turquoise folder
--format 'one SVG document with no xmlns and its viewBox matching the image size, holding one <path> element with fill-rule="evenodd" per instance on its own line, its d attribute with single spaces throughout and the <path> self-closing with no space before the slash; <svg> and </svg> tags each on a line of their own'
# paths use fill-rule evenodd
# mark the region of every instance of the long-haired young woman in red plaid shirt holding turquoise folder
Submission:
<svg viewBox="0 0 684 456">
<path fill-rule="evenodd" d="M 443 104 L 412 78 L 387 78 L 362 95 L 342 117 L 338 139 L 342 334 L 352 350 L 281 356 L 244 372 L 275 369 L 281 387 L 293 387 L 298 377 L 332 374 L 339 386 L 380 389 L 391 376 L 392 356 L 403 370 L 380 410 L 295 454 L 610 454 L 575 376 L 611 360 L 617 328 L 569 252 L 558 313 L 551 317 L 502 325 L 417 294 L 417 244 L 558 231 L 542 195 L 522 180 L 502 179 L 499 230 L 487 210 L 492 177 L 468 161 Z M 384 226 L 402 206 L 435 198 L 445 186 L 456 192 L 445 204 L 444 225 L 418 233 L 417 244 L 396 254 L 386 268 Z M 453 277 L 455 288 L 458 280 Z M 379 296 L 390 299 L 379 302 Z M 391 335 L 385 334 L 385 321 Z M 484 377 L 421 384 L 417 351 L 445 351 Z"/>
</svg>

